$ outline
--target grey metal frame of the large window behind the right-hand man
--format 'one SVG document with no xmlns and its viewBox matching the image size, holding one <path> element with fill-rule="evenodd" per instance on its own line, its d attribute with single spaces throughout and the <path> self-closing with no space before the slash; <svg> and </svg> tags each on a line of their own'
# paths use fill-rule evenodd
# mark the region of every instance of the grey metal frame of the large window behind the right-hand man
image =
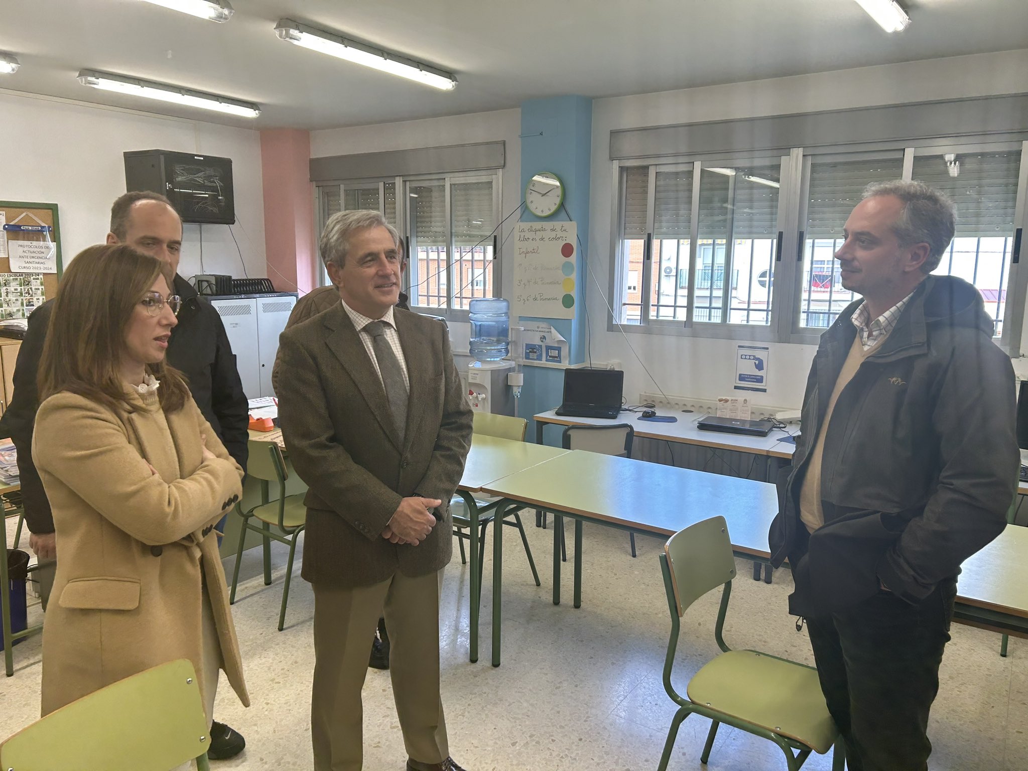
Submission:
<svg viewBox="0 0 1028 771">
<path fill-rule="evenodd" d="M 850 145 L 827 145 L 818 147 L 771 148 L 764 151 L 745 151 L 734 153 L 702 153 L 692 155 L 669 155 L 659 157 L 619 158 L 612 163 L 612 185 L 615 191 L 611 200 L 611 265 L 609 288 L 612 298 L 613 313 L 608 314 L 608 331 L 630 332 L 636 334 L 667 334 L 684 337 L 705 337 L 714 339 L 752 340 L 757 342 L 788 342 L 801 344 L 817 344 L 823 328 L 800 327 L 800 302 L 802 298 L 803 258 L 805 241 L 802 235 L 806 229 L 808 191 L 810 184 L 810 166 L 813 159 L 824 159 L 838 156 L 840 158 L 869 159 L 881 158 L 886 154 L 900 153 L 903 156 L 903 179 L 910 179 L 915 155 L 938 155 L 947 152 L 967 154 L 972 152 L 1020 151 L 1020 174 L 1018 177 L 1017 200 L 1015 204 L 1014 222 L 1011 234 L 1022 233 L 1021 252 L 1017 262 L 1008 265 L 1006 280 L 1006 298 L 1002 318 L 1002 332 L 993 338 L 997 345 L 1013 357 L 1021 354 L 1021 341 L 1025 323 L 1026 296 L 1028 296 L 1028 234 L 1024 233 L 1028 225 L 1028 134 L 1002 134 L 968 137 L 945 137 L 918 140 L 901 140 L 896 142 L 870 142 Z M 696 210 L 699 205 L 699 170 L 701 163 L 746 166 L 765 163 L 772 157 L 781 157 L 781 186 L 778 198 L 778 241 L 775 258 L 774 278 L 772 283 L 771 320 L 770 324 L 746 325 L 729 323 L 694 323 L 692 321 L 695 305 L 694 291 L 697 278 L 697 243 L 696 233 L 699 227 Z M 659 171 L 673 171 L 693 166 L 693 211 L 690 218 L 690 286 L 689 286 L 689 320 L 650 319 L 651 297 L 653 293 L 653 242 L 654 232 L 654 198 L 656 194 L 656 174 Z M 625 244 L 625 190 L 626 175 L 624 170 L 646 167 L 649 172 L 647 188 L 647 233 L 649 259 L 644 256 L 640 270 L 639 293 L 640 313 L 638 323 L 622 321 L 623 298 L 627 286 L 629 260 L 623 254 Z M 841 224 L 841 223 L 840 223 Z M 726 270 L 734 269 L 734 265 L 726 265 Z M 617 315 L 617 316 L 615 316 Z"/>
</svg>

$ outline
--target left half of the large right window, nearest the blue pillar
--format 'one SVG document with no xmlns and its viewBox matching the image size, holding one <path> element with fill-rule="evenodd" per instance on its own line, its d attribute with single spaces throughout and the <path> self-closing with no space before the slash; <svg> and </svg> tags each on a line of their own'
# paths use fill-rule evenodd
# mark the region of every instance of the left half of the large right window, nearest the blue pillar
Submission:
<svg viewBox="0 0 1028 771">
<path fill-rule="evenodd" d="M 777 158 L 625 168 L 619 321 L 770 327 L 780 186 Z"/>
</svg>

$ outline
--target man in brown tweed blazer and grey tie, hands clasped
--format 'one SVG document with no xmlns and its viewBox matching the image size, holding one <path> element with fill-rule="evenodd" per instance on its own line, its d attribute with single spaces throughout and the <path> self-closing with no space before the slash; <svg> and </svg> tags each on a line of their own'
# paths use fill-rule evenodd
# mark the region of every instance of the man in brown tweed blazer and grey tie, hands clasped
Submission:
<svg viewBox="0 0 1028 771">
<path fill-rule="evenodd" d="M 408 771 L 463 771 L 439 694 L 439 591 L 472 414 L 446 328 L 394 307 L 398 242 L 377 212 L 330 218 L 320 250 L 341 302 L 280 339 L 283 435 L 309 486 L 316 771 L 362 768 L 361 688 L 382 612 Z"/>
</svg>

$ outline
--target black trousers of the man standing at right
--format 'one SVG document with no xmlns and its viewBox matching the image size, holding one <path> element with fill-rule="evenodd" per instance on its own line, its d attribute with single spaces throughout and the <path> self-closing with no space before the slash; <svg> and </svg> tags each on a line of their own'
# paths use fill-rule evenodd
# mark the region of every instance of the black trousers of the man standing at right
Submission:
<svg viewBox="0 0 1028 771">
<path fill-rule="evenodd" d="M 850 771 L 928 768 L 928 711 L 955 598 L 956 581 L 948 580 L 917 605 L 880 591 L 842 613 L 807 619 Z"/>
</svg>

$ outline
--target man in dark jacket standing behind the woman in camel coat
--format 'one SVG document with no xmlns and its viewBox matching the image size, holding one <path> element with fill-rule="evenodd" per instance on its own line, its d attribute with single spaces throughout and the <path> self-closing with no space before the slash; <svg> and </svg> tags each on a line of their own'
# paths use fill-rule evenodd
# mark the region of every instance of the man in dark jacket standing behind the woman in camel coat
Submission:
<svg viewBox="0 0 1028 771">
<path fill-rule="evenodd" d="M 188 379 L 196 405 L 225 445 L 225 449 L 244 469 L 247 467 L 249 409 L 243 382 L 235 368 L 225 327 L 218 311 L 197 296 L 189 283 L 178 274 L 182 248 L 182 220 L 162 195 L 153 192 L 130 192 L 111 207 L 111 231 L 108 244 L 128 244 L 140 252 L 169 263 L 174 270 L 175 293 L 182 298 L 178 326 L 168 343 L 168 361 Z M 116 277 L 111 277 L 116 281 Z M 22 483 L 25 520 L 29 526 L 29 546 L 39 558 L 36 575 L 40 582 L 43 607 L 49 599 L 57 559 L 53 517 L 39 474 L 32 461 L 32 429 L 39 407 L 36 377 L 53 301 L 47 300 L 29 317 L 29 328 L 14 366 L 14 398 L 0 418 L 0 434 L 9 436 L 17 449 L 17 469 Z M 211 728 L 212 759 L 231 758 L 246 745 L 238 733 L 215 723 Z"/>
</svg>

